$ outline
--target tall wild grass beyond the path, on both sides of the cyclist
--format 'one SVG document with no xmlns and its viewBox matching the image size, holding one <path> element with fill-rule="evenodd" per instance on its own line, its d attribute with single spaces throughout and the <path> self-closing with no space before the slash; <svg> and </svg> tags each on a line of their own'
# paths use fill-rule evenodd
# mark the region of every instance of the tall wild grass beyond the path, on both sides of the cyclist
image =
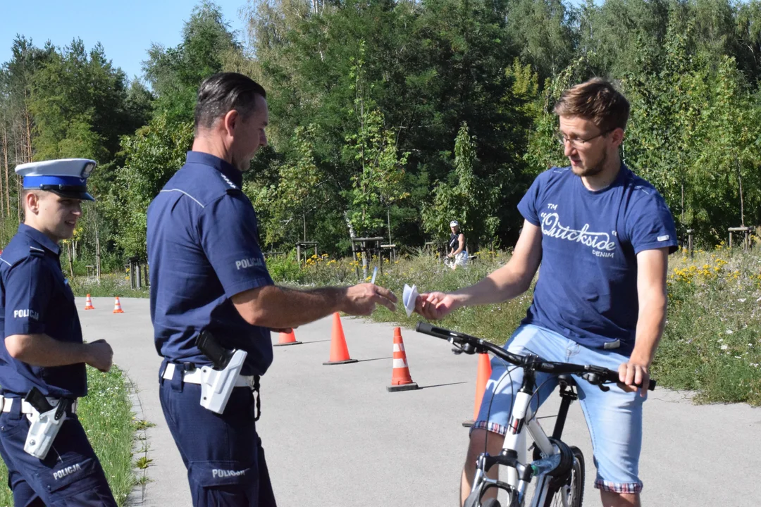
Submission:
<svg viewBox="0 0 761 507">
<path fill-rule="evenodd" d="M 401 296 L 404 284 L 421 291 L 454 290 L 473 284 L 508 261 L 508 254 L 482 252 L 466 269 L 451 271 L 438 258 L 416 255 L 397 263 L 384 262 L 376 283 Z M 283 264 L 285 260 L 277 261 Z M 306 268 L 279 283 L 319 286 L 354 284 L 357 261 L 312 258 Z M 369 273 L 371 273 L 372 268 Z M 653 376 L 667 388 L 696 391 L 697 402 L 747 402 L 761 406 L 761 252 L 743 253 L 718 246 L 712 252 L 684 252 L 670 256 L 669 310 L 666 331 L 653 364 Z M 504 343 L 531 303 L 531 294 L 491 306 L 460 309 L 441 321 L 443 327 Z M 372 316 L 380 322 L 414 327 L 418 315 L 408 318 L 380 308 Z"/>
</svg>

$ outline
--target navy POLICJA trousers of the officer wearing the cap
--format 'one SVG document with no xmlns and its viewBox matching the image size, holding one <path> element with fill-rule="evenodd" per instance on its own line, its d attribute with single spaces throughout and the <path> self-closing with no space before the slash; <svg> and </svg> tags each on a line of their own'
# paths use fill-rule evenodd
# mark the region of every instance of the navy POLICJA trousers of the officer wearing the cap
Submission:
<svg viewBox="0 0 761 507">
<path fill-rule="evenodd" d="M 75 414 L 67 414 L 45 459 L 24 452 L 29 419 L 16 399 L 0 414 L 0 455 L 15 507 L 116 507 L 103 467 Z"/>
</svg>

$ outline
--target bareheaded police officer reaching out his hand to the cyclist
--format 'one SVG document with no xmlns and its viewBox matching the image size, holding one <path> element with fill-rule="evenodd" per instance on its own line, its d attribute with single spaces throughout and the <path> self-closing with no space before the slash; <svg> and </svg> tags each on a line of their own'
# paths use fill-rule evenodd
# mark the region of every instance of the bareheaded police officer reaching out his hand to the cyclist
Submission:
<svg viewBox="0 0 761 507">
<path fill-rule="evenodd" d="M 196 506 L 275 505 L 252 395 L 272 363 L 270 330 L 396 303 L 374 284 L 293 290 L 272 283 L 253 205 L 240 189 L 242 172 L 267 144 L 268 121 L 265 90 L 250 78 L 221 73 L 205 80 L 193 151 L 148 208 L 151 318 L 164 356 L 161 406 Z M 201 372 L 212 361 L 196 346 L 199 334 L 247 352 L 221 414 L 200 404 Z"/>
</svg>

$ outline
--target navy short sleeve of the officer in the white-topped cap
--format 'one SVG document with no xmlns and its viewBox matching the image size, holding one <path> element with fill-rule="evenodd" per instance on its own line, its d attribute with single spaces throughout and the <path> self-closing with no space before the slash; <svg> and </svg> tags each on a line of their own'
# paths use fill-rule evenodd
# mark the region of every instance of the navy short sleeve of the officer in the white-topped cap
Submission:
<svg viewBox="0 0 761 507">
<path fill-rule="evenodd" d="M 46 332 L 45 311 L 53 277 L 40 258 L 30 257 L 5 276 L 5 337 Z"/>
</svg>

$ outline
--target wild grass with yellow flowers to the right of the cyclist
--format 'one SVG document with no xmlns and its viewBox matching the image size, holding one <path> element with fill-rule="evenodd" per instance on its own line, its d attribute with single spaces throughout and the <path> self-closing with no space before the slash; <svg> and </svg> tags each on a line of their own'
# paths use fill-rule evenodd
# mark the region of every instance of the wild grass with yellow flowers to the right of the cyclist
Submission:
<svg viewBox="0 0 761 507">
<path fill-rule="evenodd" d="M 654 375 L 696 401 L 761 405 L 761 255 L 672 256 L 669 313 Z"/>
</svg>

